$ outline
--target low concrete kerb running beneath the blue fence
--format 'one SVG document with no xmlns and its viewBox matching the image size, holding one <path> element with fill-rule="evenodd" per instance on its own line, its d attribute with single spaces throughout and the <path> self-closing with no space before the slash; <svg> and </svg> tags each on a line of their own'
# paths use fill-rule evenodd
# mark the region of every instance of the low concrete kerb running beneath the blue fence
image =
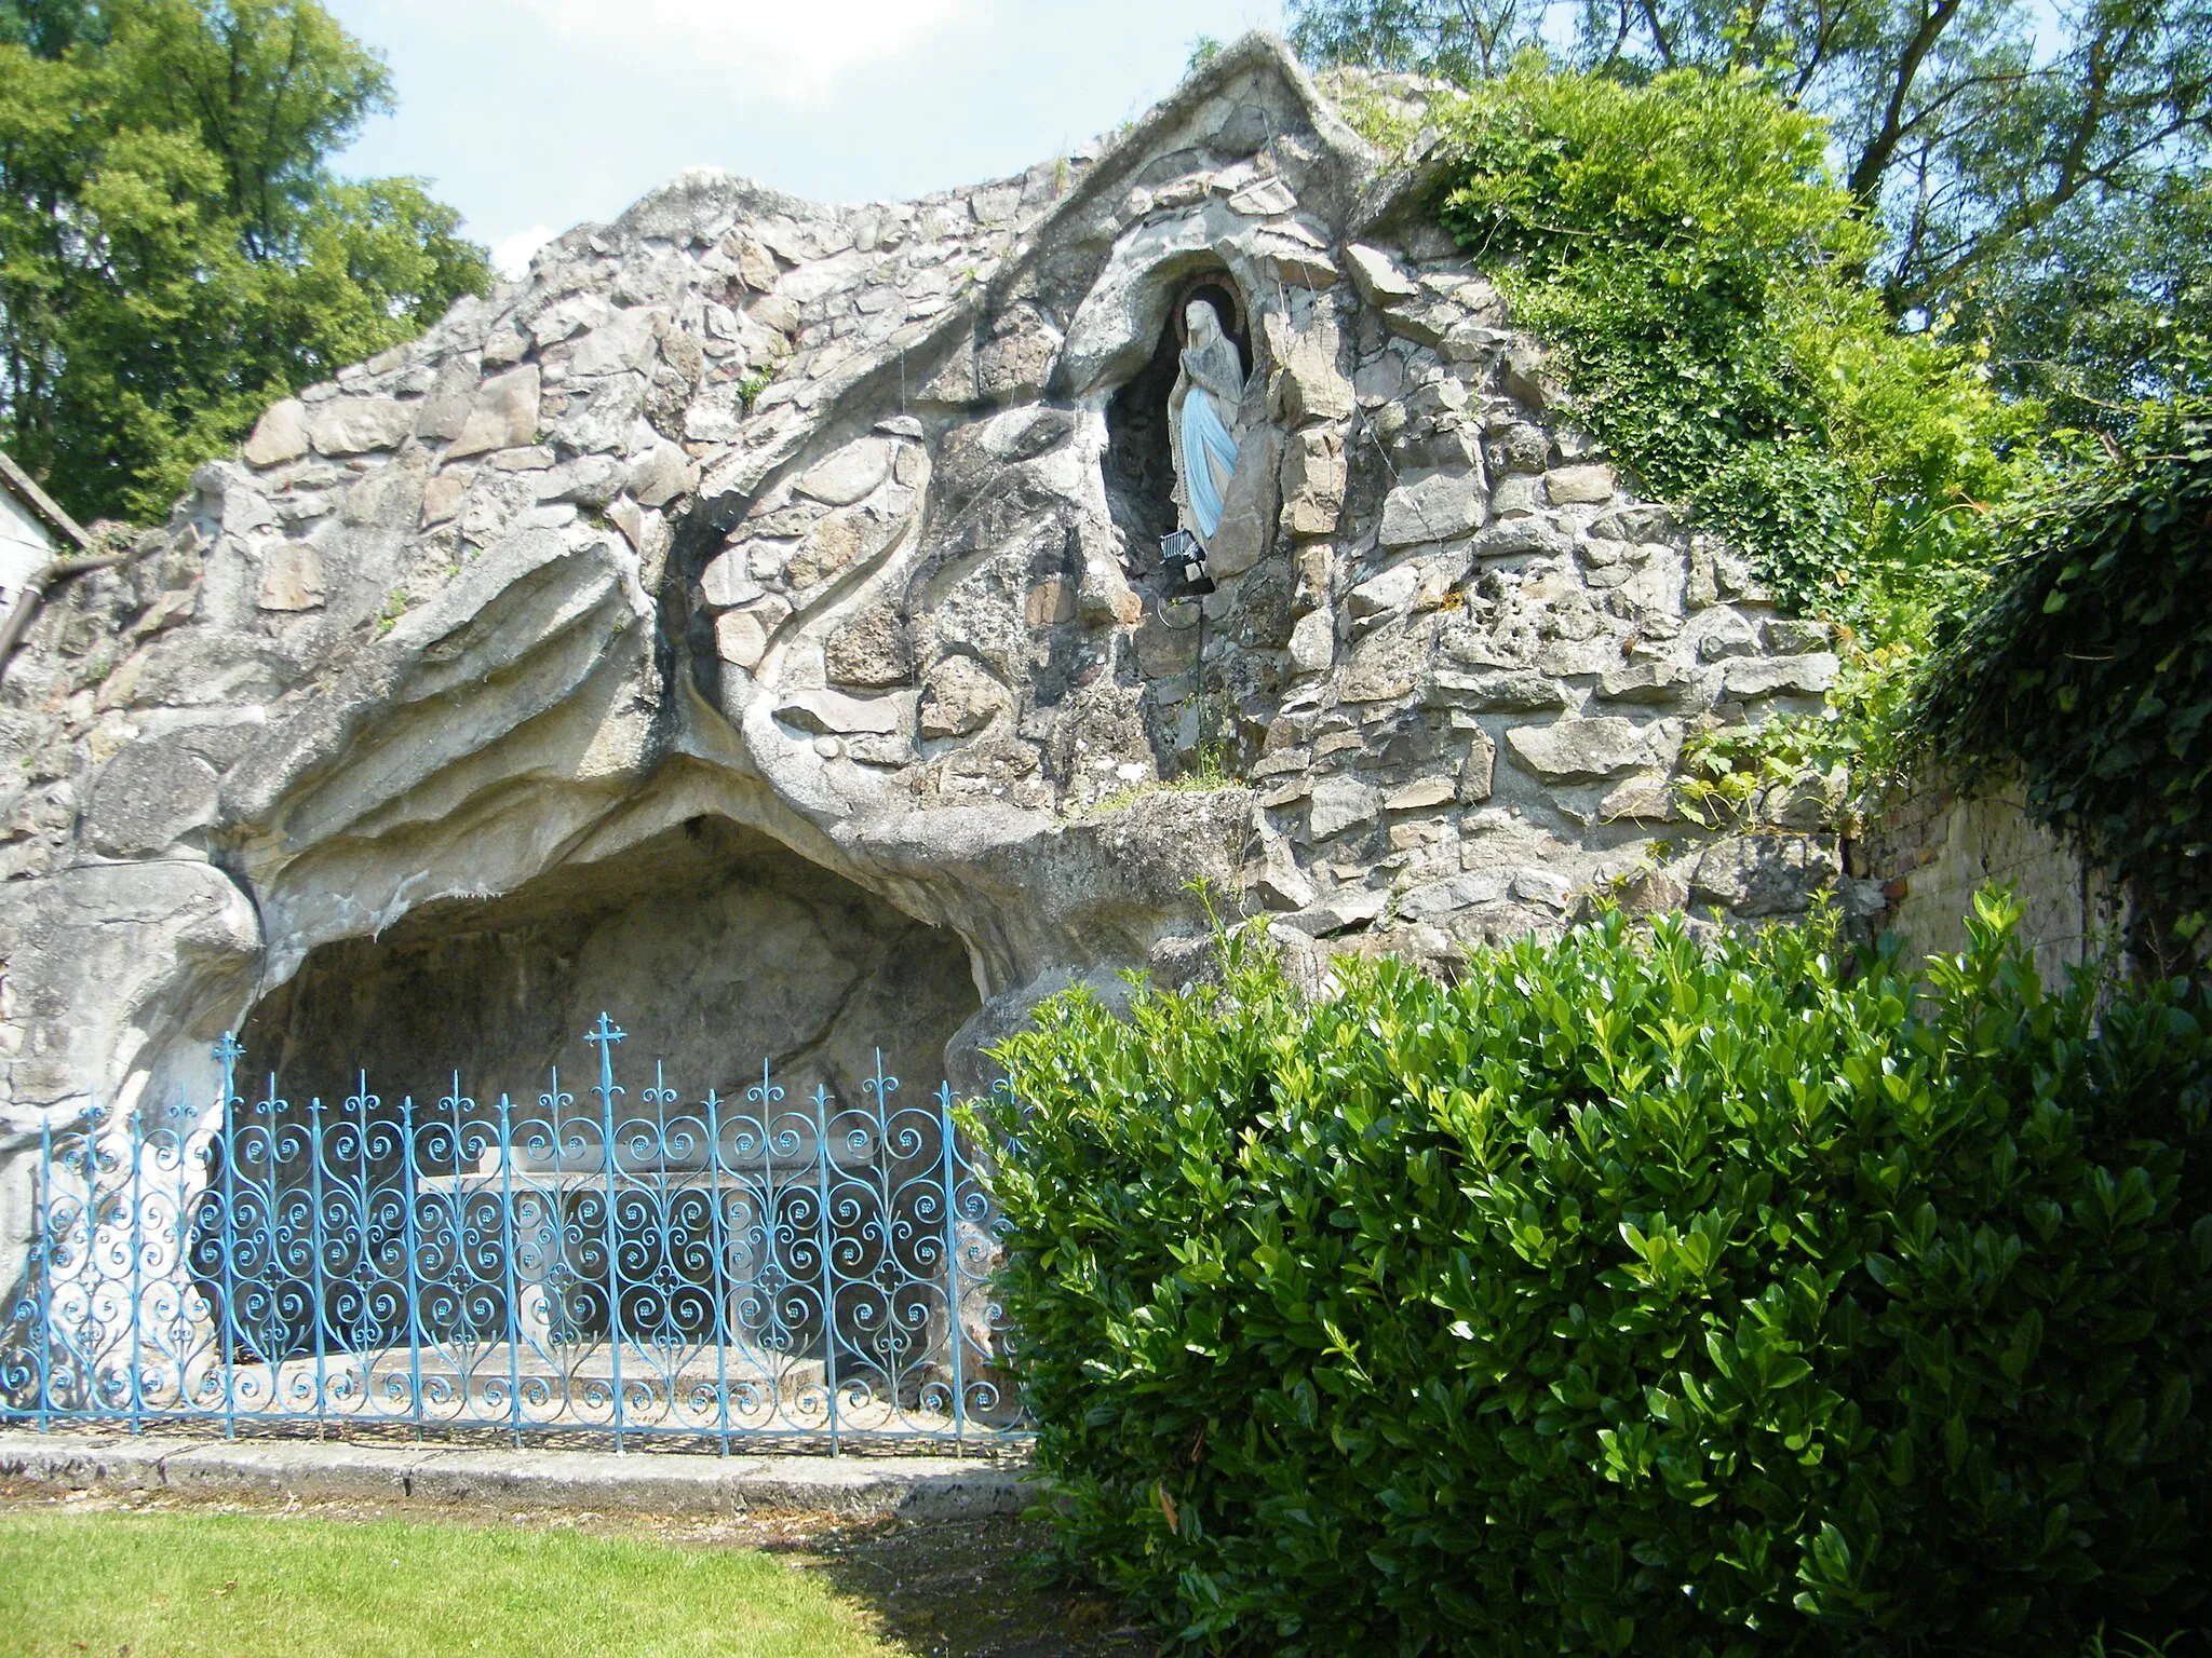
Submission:
<svg viewBox="0 0 2212 1658">
<path fill-rule="evenodd" d="M 699 1457 L 684 1452 L 338 1446 L 0 1433 L 0 1479 L 206 1497 L 414 1499 L 639 1514 L 1020 1514 L 1029 1468 L 953 1457 Z"/>
</svg>

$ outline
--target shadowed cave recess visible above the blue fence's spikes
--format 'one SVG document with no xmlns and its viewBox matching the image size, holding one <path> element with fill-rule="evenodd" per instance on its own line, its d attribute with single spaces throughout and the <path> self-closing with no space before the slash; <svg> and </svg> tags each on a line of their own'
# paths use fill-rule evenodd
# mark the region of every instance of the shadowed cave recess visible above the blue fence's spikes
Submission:
<svg viewBox="0 0 2212 1658">
<path fill-rule="evenodd" d="M 394 1105 L 504 1090 L 533 1105 L 551 1066 L 586 1099 L 584 1032 L 628 1032 L 617 1079 L 679 1099 L 741 1099 L 768 1061 L 790 1101 L 816 1083 L 860 1105 L 883 1068 L 900 1103 L 945 1074 L 945 1043 L 975 1012 L 958 935 L 916 922 L 728 818 L 699 816 L 604 862 L 553 869 L 484 902 L 442 902 L 380 937 L 310 951 L 241 1028 L 246 1072 L 274 1068 L 294 1103 L 356 1088 Z"/>
</svg>

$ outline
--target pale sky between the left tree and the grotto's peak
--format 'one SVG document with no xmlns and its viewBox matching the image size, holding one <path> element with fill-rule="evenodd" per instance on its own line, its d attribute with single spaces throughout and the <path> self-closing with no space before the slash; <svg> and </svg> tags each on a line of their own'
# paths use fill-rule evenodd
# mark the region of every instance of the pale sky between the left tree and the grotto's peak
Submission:
<svg viewBox="0 0 2212 1658">
<path fill-rule="evenodd" d="M 1018 172 L 1141 113 L 1279 0 L 323 0 L 398 113 L 338 159 L 416 172 L 515 265 L 686 166 L 818 201 Z"/>
</svg>

